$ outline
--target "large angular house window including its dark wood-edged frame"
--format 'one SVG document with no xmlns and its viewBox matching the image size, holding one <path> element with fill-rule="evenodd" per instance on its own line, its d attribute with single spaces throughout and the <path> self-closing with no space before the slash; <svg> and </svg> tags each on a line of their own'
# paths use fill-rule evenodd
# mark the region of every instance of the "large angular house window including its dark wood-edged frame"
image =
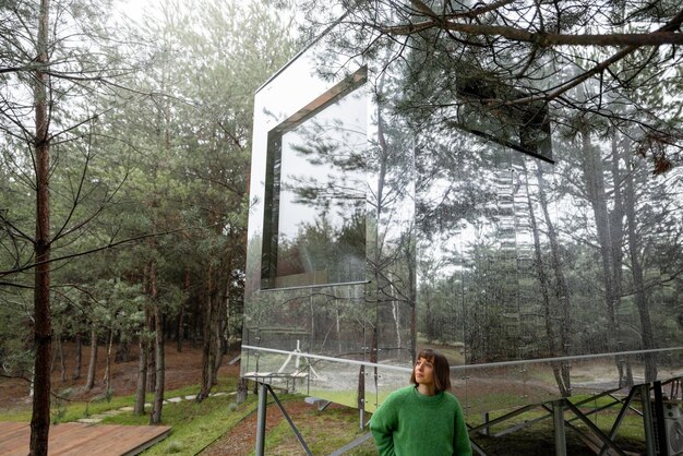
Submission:
<svg viewBox="0 0 683 456">
<path fill-rule="evenodd" d="M 363 68 L 268 133 L 262 288 L 366 279 Z"/>
</svg>

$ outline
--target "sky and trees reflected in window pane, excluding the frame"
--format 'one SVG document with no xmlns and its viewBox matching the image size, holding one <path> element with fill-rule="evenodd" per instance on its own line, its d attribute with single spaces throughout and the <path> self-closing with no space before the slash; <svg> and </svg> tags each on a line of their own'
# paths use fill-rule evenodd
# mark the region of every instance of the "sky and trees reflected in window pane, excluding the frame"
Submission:
<svg viewBox="0 0 683 456">
<path fill-rule="evenodd" d="M 364 279 L 364 104 L 352 93 L 283 135 L 280 287 Z"/>
</svg>

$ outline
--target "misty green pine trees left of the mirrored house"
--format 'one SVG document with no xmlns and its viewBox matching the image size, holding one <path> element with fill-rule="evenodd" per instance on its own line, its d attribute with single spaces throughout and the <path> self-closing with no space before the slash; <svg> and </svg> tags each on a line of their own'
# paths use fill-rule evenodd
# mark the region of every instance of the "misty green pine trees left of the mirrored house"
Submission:
<svg viewBox="0 0 683 456">
<path fill-rule="evenodd" d="M 32 454 L 47 453 L 52 344 L 75 341 L 80 376 L 82 339 L 107 361 L 139 343 L 159 422 L 167 333 L 206 340 L 207 394 L 241 329 L 253 93 L 293 39 L 250 2 L 122 8 L 0 7 L 0 361 L 35 385 Z"/>
</svg>

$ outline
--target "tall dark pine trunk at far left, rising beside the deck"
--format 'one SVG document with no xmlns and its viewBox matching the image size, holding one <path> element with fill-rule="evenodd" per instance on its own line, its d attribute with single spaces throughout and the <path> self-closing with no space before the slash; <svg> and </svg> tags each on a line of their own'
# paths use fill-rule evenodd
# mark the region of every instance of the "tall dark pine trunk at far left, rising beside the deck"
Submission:
<svg viewBox="0 0 683 456">
<path fill-rule="evenodd" d="M 52 351 L 52 322 L 50 320 L 50 143 L 48 86 L 46 71 L 49 34 L 49 0 L 40 1 L 38 17 L 37 52 L 34 62 L 35 101 L 35 172 L 36 172 L 36 237 L 34 271 L 34 344 L 35 389 L 31 416 L 29 455 L 43 456 L 48 453 L 50 432 L 50 359 Z"/>
</svg>

